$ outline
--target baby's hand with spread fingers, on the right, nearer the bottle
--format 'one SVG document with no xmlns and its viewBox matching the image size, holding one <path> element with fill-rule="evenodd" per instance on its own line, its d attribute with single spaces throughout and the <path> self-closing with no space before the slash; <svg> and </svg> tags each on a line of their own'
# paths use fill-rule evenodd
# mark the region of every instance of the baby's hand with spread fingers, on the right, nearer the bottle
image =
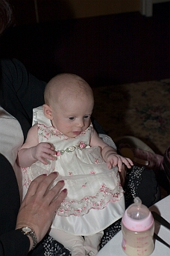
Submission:
<svg viewBox="0 0 170 256">
<path fill-rule="evenodd" d="M 107 157 L 107 167 L 111 169 L 118 165 L 119 171 L 122 171 L 122 165 L 125 164 L 127 168 L 131 168 L 133 166 L 133 162 L 124 156 L 120 156 L 118 153 L 113 153 Z"/>
</svg>

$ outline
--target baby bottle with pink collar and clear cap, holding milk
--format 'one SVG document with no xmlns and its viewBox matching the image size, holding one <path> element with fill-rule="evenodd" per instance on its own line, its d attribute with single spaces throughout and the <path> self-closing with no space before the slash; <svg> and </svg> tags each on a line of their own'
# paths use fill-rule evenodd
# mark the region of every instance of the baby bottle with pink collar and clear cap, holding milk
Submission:
<svg viewBox="0 0 170 256">
<path fill-rule="evenodd" d="M 154 218 L 138 197 L 122 217 L 122 249 L 129 256 L 148 256 L 154 251 Z"/>
</svg>

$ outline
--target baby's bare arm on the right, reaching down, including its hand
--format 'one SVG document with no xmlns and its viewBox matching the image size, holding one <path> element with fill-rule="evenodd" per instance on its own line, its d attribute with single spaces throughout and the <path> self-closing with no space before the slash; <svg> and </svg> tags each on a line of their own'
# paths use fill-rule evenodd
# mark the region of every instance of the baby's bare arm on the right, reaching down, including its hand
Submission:
<svg viewBox="0 0 170 256">
<path fill-rule="evenodd" d="M 113 147 L 108 146 L 101 138 L 99 138 L 95 129 L 90 141 L 90 146 L 101 147 L 101 155 L 103 156 L 104 161 L 107 162 L 107 167 L 109 169 L 118 165 L 119 171 L 122 171 L 123 163 L 127 168 L 131 168 L 131 165 L 133 165 L 133 162 L 129 158 L 120 156 Z"/>
</svg>

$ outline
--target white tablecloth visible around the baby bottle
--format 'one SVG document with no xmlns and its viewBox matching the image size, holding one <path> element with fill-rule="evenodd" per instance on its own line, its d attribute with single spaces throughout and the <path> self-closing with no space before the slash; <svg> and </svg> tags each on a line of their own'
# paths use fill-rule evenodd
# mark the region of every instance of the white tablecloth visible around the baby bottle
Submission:
<svg viewBox="0 0 170 256">
<path fill-rule="evenodd" d="M 168 222 L 170 222 L 170 195 L 163 200 L 157 202 L 152 207 L 151 211 L 159 213 L 160 216 L 163 216 Z M 165 228 L 163 225 L 159 225 L 158 222 L 155 222 L 155 233 L 161 237 L 166 243 L 170 245 L 170 230 Z M 112 240 L 110 240 L 97 254 L 97 256 L 125 256 L 125 252 L 122 250 L 122 231 L 119 231 Z M 155 249 L 151 254 L 152 256 L 169 256 L 170 249 L 160 243 L 155 241 Z"/>
</svg>

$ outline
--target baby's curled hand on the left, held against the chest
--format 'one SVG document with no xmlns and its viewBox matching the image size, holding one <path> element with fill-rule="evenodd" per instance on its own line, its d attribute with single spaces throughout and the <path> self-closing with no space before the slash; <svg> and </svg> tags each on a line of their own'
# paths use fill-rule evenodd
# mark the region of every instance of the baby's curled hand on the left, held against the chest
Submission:
<svg viewBox="0 0 170 256">
<path fill-rule="evenodd" d="M 37 146 L 31 148 L 31 154 L 34 159 L 47 165 L 48 162 L 45 159 L 54 160 L 56 154 L 54 147 L 47 142 L 40 142 Z"/>
</svg>

